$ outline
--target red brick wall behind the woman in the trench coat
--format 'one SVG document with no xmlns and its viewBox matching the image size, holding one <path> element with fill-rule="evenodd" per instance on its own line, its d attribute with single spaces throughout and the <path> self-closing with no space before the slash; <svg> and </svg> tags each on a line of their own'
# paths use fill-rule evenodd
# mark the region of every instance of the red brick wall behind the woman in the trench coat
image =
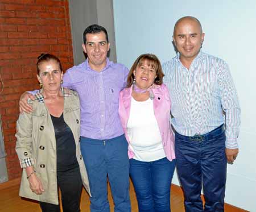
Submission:
<svg viewBox="0 0 256 212">
<path fill-rule="evenodd" d="M 0 0 L 0 113 L 9 180 L 21 171 L 14 136 L 19 97 L 39 88 L 36 58 L 45 52 L 59 56 L 64 70 L 73 65 L 68 0 Z"/>
</svg>

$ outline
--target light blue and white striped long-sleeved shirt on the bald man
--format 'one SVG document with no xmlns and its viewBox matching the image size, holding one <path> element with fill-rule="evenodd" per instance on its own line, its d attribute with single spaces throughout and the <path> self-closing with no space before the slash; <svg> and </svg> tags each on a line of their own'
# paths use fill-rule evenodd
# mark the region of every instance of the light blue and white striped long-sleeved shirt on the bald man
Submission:
<svg viewBox="0 0 256 212">
<path fill-rule="evenodd" d="M 194 136 L 225 123 L 226 148 L 238 148 L 241 109 L 228 64 L 200 51 L 188 70 L 179 56 L 163 64 L 172 126 L 181 135 Z"/>
</svg>

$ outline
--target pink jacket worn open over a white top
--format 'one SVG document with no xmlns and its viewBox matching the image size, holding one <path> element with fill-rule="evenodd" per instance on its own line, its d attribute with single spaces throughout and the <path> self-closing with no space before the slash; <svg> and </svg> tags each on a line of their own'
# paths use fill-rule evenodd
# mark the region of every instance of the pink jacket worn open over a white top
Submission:
<svg viewBox="0 0 256 212">
<path fill-rule="evenodd" d="M 121 124 L 123 127 L 123 132 L 125 132 L 125 138 L 128 143 L 129 136 L 127 135 L 127 122 L 130 116 L 131 109 L 131 92 L 132 86 L 130 88 L 123 89 L 119 94 L 119 117 L 121 119 Z M 152 89 L 155 95 L 153 100 L 155 118 L 158 122 L 160 134 L 162 136 L 162 143 L 164 148 L 164 153 L 168 160 L 172 161 L 175 159 L 174 153 L 174 134 L 170 126 L 170 111 L 171 111 L 171 99 L 166 85 L 160 85 L 160 88 Z M 133 151 L 128 149 L 129 159 L 134 157 Z"/>
</svg>

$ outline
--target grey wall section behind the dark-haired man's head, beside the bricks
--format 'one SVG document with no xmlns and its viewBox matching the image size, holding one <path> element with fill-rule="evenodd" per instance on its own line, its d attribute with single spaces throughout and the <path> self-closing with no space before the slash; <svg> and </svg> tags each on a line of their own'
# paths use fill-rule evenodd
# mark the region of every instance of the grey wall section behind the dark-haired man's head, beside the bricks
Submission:
<svg viewBox="0 0 256 212">
<path fill-rule="evenodd" d="M 69 0 L 69 14 L 75 65 L 85 60 L 82 52 L 82 33 L 86 27 L 94 23 L 104 26 L 108 31 L 109 59 L 116 62 L 113 0 Z"/>
</svg>

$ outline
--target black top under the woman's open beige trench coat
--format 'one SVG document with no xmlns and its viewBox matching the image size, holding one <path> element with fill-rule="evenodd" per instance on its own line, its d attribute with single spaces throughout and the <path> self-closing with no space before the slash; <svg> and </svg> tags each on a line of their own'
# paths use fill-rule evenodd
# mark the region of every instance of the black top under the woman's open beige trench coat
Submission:
<svg viewBox="0 0 256 212">
<path fill-rule="evenodd" d="M 51 118 L 56 138 L 57 172 L 65 172 L 78 167 L 75 139 L 68 124 L 64 121 L 63 114 L 59 118 L 51 115 Z"/>
</svg>

